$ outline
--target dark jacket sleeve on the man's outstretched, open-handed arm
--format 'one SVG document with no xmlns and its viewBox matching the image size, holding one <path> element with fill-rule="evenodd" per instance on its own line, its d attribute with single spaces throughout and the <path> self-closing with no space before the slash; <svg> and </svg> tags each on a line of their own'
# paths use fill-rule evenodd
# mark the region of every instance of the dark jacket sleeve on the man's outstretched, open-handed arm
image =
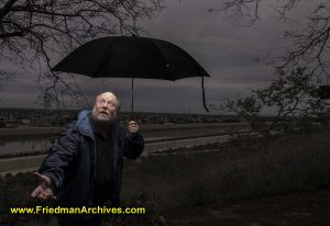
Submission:
<svg viewBox="0 0 330 226">
<path fill-rule="evenodd" d="M 38 172 L 52 180 L 55 192 L 62 187 L 67 169 L 78 155 L 78 146 L 79 135 L 72 123 L 61 133 L 58 139 L 51 147 L 48 156 L 43 161 Z"/>
</svg>

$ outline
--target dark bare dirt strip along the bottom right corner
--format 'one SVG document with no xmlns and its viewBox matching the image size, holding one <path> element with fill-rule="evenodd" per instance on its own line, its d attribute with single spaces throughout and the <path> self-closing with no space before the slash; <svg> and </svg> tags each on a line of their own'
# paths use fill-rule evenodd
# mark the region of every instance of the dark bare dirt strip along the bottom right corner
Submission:
<svg viewBox="0 0 330 226">
<path fill-rule="evenodd" d="M 170 210 L 169 226 L 329 226 L 330 190 Z"/>
</svg>

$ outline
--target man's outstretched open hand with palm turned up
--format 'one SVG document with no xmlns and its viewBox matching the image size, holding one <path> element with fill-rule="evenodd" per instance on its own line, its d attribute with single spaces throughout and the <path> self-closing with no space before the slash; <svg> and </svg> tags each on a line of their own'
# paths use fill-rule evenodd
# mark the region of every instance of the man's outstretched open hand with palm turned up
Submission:
<svg viewBox="0 0 330 226">
<path fill-rule="evenodd" d="M 52 190 L 51 179 L 47 176 L 43 176 L 38 172 L 34 172 L 34 174 L 36 174 L 37 179 L 40 180 L 40 184 L 33 190 L 31 196 L 42 200 L 56 199 Z"/>
</svg>

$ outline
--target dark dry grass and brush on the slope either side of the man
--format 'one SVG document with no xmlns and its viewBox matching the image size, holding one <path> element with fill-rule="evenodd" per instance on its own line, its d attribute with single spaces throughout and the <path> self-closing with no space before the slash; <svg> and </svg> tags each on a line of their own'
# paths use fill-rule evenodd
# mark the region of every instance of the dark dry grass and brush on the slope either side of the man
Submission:
<svg viewBox="0 0 330 226">
<path fill-rule="evenodd" d="M 146 206 L 147 214 L 120 219 L 116 225 L 161 224 L 162 213 L 172 208 L 328 189 L 329 134 L 314 132 L 277 137 L 262 148 L 250 139 L 232 143 L 237 148 L 215 144 L 200 147 L 213 149 L 209 152 L 188 154 L 182 149 L 179 155 L 151 155 L 140 162 L 128 160 L 123 176 L 123 204 Z M 9 206 L 41 203 L 29 197 L 34 185 L 35 180 L 29 173 L 2 178 L 1 211 L 8 211 Z M 9 223 L 33 217 L 4 216 L 2 213 L 1 219 Z M 33 222 L 30 223 L 34 225 Z M 26 225 L 26 222 L 21 224 Z"/>
</svg>

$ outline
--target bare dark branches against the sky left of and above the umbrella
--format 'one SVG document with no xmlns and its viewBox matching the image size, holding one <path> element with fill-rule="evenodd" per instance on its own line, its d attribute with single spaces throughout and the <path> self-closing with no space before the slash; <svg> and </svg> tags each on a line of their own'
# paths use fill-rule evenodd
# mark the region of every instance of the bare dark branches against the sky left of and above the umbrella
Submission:
<svg viewBox="0 0 330 226">
<path fill-rule="evenodd" d="M 23 68 L 37 66 L 40 80 L 52 81 L 43 92 L 58 98 L 73 91 L 67 82 L 51 72 L 52 59 L 92 38 L 138 34 L 136 22 L 160 11 L 163 0 L 0 0 L 0 57 Z M 45 70 L 43 70 L 45 69 Z M 0 78 L 10 74 L 0 70 Z"/>
</svg>

